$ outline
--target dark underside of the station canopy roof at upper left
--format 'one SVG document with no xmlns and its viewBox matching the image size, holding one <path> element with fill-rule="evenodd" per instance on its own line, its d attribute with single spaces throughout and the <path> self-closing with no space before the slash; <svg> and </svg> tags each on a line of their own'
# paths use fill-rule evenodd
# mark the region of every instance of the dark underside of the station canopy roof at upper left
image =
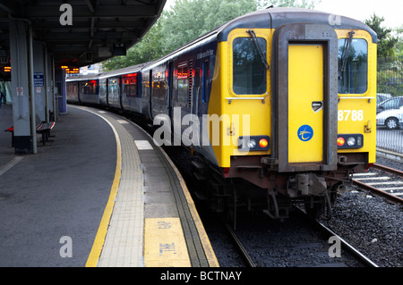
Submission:
<svg viewBox="0 0 403 285">
<path fill-rule="evenodd" d="M 13 19 L 30 24 L 34 41 L 46 43 L 56 66 L 81 67 L 124 55 L 157 21 L 165 4 L 166 0 L 0 0 L 0 58 L 9 56 Z"/>
</svg>

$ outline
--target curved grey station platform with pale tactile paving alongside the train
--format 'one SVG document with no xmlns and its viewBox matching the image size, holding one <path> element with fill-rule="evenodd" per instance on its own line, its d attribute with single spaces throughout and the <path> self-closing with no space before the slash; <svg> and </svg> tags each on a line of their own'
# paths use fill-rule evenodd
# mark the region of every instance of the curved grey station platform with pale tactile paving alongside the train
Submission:
<svg viewBox="0 0 403 285">
<path fill-rule="evenodd" d="M 3 130 L 12 112 L 1 106 Z M 0 132 L 0 266 L 219 266 L 184 180 L 141 128 L 69 105 L 51 135 L 14 155 Z"/>
</svg>

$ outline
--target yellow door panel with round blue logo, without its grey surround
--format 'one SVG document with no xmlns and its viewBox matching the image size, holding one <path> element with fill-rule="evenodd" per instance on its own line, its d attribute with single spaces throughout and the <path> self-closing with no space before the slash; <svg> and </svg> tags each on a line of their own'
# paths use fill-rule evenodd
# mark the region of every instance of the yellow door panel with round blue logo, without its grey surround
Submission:
<svg viewBox="0 0 403 285">
<path fill-rule="evenodd" d="M 323 46 L 288 46 L 288 163 L 323 160 Z"/>
</svg>

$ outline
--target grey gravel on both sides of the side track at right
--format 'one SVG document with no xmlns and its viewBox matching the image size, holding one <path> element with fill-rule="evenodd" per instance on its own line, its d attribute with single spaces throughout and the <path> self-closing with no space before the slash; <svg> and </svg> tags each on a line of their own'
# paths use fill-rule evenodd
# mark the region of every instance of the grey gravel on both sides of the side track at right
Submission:
<svg viewBox="0 0 403 285">
<path fill-rule="evenodd" d="M 403 170 L 401 163 L 389 159 L 377 157 L 377 163 Z M 375 264 L 403 266 L 403 205 L 351 188 L 324 223 Z"/>
</svg>

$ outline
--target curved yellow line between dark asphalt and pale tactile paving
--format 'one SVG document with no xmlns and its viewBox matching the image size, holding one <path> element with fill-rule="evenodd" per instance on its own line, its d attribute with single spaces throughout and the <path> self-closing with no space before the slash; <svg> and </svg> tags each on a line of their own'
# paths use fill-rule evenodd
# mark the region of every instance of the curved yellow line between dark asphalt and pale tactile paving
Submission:
<svg viewBox="0 0 403 285">
<path fill-rule="evenodd" d="M 85 110 L 90 113 L 90 110 Z M 98 113 L 94 113 L 101 117 L 103 120 L 107 122 L 107 124 L 112 128 L 115 133 L 116 138 L 116 171 L 115 171 L 115 179 L 112 184 L 112 188 L 110 190 L 109 198 L 107 200 L 107 206 L 105 207 L 104 214 L 102 215 L 101 222 L 99 223 L 99 228 L 97 231 L 97 236 L 95 237 L 94 244 L 92 245 L 90 256 L 88 256 L 86 267 L 96 267 L 99 261 L 99 256 L 102 252 L 102 247 L 104 247 L 105 238 L 107 237 L 107 227 L 112 216 L 112 212 L 114 210 L 115 200 L 117 189 L 119 188 L 121 170 L 122 170 L 122 147 L 120 145 L 120 138 L 117 134 L 115 127 L 107 121 L 104 117 L 99 115 Z"/>
</svg>

